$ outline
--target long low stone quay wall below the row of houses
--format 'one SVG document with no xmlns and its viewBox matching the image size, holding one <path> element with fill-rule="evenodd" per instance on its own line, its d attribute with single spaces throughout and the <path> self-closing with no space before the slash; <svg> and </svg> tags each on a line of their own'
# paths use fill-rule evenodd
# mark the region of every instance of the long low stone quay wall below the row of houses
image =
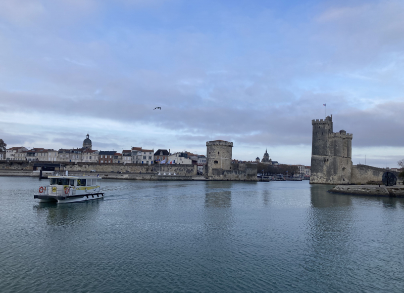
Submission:
<svg viewBox="0 0 404 293">
<path fill-rule="evenodd" d="M 28 162 L 28 161 L 4 161 L 0 162 L 0 171 L 5 170 L 33 170 L 34 163 L 49 163 L 48 161 L 35 161 L 35 162 Z M 59 162 L 56 162 L 59 163 Z M 74 163 L 74 162 L 60 162 L 61 169 L 67 171 L 85 171 L 90 172 L 91 170 L 96 170 L 96 172 L 122 172 L 125 173 L 126 171 L 130 173 L 158 173 L 159 168 L 161 173 L 164 172 L 164 165 L 159 164 L 120 164 L 120 163 L 111 163 L 111 164 L 98 164 L 98 163 Z M 171 174 L 174 173 L 174 165 L 166 165 L 166 173 Z M 176 165 L 175 166 L 175 173 L 179 176 L 193 176 L 197 175 L 197 165 Z"/>
</svg>

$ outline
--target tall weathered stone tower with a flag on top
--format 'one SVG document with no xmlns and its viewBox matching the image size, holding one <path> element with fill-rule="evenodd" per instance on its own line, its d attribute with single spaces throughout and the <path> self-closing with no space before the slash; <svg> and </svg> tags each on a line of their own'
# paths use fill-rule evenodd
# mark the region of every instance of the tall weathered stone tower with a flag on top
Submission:
<svg viewBox="0 0 404 293">
<path fill-rule="evenodd" d="M 349 184 L 352 169 L 352 134 L 332 132 L 332 115 L 312 120 L 310 183 Z"/>
</svg>

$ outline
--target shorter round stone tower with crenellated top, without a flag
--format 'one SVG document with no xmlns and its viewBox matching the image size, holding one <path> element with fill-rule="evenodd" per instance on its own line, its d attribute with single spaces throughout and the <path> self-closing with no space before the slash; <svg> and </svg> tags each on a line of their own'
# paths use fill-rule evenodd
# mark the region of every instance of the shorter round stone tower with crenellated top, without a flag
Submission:
<svg viewBox="0 0 404 293">
<path fill-rule="evenodd" d="M 207 173 L 212 176 L 213 169 L 231 169 L 231 149 L 233 143 L 224 140 L 206 142 Z"/>
</svg>

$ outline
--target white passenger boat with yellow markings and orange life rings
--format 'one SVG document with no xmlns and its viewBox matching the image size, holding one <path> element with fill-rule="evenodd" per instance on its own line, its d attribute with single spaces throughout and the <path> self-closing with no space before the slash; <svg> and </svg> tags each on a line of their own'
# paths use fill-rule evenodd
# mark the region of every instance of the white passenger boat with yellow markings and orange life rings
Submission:
<svg viewBox="0 0 404 293">
<path fill-rule="evenodd" d="M 49 185 L 39 186 L 39 202 L 77 202 L 103 198 L 101 179 L 97 176 L 48 176 Z"/>
</svg>

